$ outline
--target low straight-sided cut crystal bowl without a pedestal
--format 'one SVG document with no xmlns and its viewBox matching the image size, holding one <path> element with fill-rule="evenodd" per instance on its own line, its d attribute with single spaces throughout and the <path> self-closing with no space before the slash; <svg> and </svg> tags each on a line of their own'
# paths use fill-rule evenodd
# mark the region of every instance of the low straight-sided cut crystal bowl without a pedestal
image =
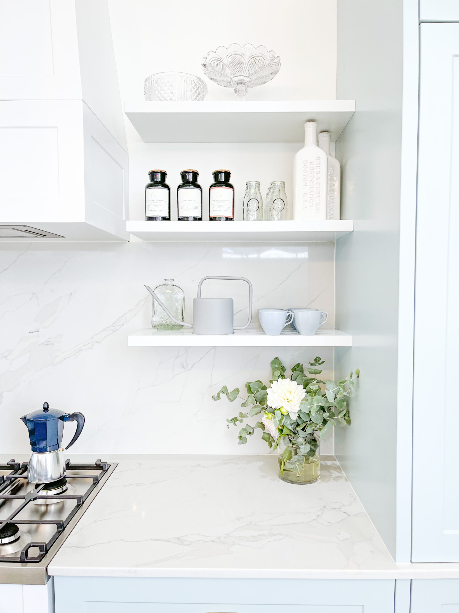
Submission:
<svg viewBox="0 0 459 613">
<path fill-rule="evenodd" d="M 145 101 L 198 102 L 207 100 L 207 84 L 186 72 L 157 72 L 144 80 Z"/>
</svg>

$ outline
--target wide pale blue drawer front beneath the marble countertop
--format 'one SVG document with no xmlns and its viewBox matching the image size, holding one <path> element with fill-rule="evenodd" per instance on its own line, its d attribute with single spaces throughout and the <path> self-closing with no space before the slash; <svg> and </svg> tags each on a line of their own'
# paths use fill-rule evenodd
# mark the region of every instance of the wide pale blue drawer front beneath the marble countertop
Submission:
<svg viewBox="0 0 459 613">
<path fill-rule="evenodd" d="M 54 590 L 56 613 L 394 613 L 395 582 L 54 577 Z"/>
</svg>

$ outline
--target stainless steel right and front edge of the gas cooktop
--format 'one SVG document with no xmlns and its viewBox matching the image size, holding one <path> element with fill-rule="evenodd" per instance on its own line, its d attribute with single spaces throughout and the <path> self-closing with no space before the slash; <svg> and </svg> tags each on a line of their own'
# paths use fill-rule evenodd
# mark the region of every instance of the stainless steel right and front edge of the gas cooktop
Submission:
<svg viewBox="0 0 459 613">
<path fill-rule="evenodd" d="M 69 525 L 67 528 L 65 528 L 64 533 L 62 533 L 62 535 L 57 539 L 56 543 L 53 544 L 53 550 L 48 552 L 41 562 L 37 562 L 36 564 L 33 562 L 25 564 L 10 564 L 7 562 L 2 562 L 0 564 L 0 584 L 45 585 L 48 583 L 50 580 L 50 576 L 47 572 L 48 564 L 58 553 L 59 549 L 70 533 L 72 533 L 72 530 L 75 528 L 77 522 L 81 519 L 81 517 L 83 517 L 84 513 L 88 511 L 92 501 L 100 492 L 107 479 L 110 478 L 110 475 L 113 473 L 116 466 L 118 466 L 118 462 L 110 462 L 110 468 L 108 468 L 102 479 L 100 479 L 97 487 L 95 487 L 89 494 L 88 498 L 86 499 L 86 503 L 84 504 L 84 508 L 79 509 L 75 516 L 72 517 L 72 520 L 70 520 Z"/>
</svg>

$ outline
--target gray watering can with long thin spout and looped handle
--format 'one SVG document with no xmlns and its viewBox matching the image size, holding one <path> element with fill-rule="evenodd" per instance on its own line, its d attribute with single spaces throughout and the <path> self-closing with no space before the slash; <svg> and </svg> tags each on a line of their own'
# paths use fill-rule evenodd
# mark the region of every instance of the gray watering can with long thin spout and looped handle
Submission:
<svg viewBox="0 0 459 613">
<path fill-rule="evenodd" d="M 201 285 L 206 279 L 245 281 L 248 283 L 248 320 L 245 326 L 234 326 L 234 306 L 232 298 L 201 298 Z M 174 318 L 159 297 L 149 286 L 145 286 L 157 303 L 166 311 L 176 324 L 193 328 L 193 334 L 234 334 L 234 330 L 244 330 L 252 321 L 252 283 L 244 276 L 204 276 L 198 285 L 198 297 L 193 298 L 193 324 L 185 324 Z"/>
</svg>

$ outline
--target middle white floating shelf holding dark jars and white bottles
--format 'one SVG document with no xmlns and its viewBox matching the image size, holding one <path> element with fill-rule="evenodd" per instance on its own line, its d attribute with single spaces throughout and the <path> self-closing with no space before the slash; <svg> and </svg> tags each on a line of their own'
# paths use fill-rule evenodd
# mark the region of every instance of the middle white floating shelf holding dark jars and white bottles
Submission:
<svg viewBox="0 0 459 613">
<path fill-rule="evenodd" d="M 353 232 L 354 221 L 127 221 L 126 229 L 146 242 L 318 242 Z"/>
</svg>

